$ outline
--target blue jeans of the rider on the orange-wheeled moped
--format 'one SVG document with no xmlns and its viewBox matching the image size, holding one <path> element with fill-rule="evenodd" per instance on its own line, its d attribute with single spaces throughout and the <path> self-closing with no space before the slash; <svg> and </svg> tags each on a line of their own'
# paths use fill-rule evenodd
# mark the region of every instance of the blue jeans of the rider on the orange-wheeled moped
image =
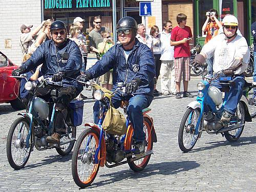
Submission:
<svg viewBox="0 0 256 192">
<path fill-rule="evenodd" d="M 138 94 L 134 97 L 131 95 L 122 95 L 122 92 L 117 92 L 111 101 L 114 108 L 119 108 L 122 100 L 129 100 L 127 106 L 127 114 L 130 116 L 130 121 L 134 128 L 133 138 L 136 141 L 145 140 L 145 133 L 143 132 L 143 113 L 142 110 L 147 108 L 153 100 L 144 94 Z M 96 101 L 93 106 L 94 123 L 98 123 L 99 119 L 99 101 Z"/>
</svg>

